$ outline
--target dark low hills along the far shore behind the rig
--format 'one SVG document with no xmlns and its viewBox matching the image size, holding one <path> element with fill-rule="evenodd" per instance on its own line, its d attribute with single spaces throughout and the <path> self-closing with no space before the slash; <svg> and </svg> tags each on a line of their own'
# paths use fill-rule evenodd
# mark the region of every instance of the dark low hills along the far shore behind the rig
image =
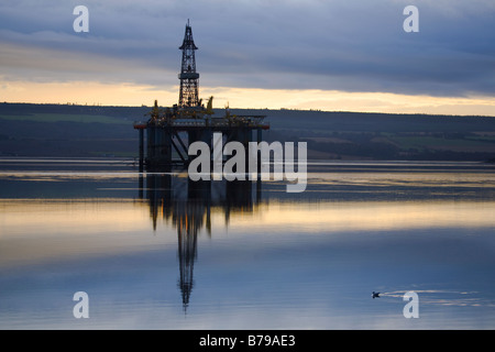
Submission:
<svg viewBox="0 0 495 352">
<path fill-rule="evenodd" d="M 132 124 L 146 120 L 150 109 L 2 102 L 0 156 L 134 158 Z M 266 141 L 307 142 L 311 160 L 495 161 L 495 117 L 230 110 L 266 116 Z"/>
</svg>

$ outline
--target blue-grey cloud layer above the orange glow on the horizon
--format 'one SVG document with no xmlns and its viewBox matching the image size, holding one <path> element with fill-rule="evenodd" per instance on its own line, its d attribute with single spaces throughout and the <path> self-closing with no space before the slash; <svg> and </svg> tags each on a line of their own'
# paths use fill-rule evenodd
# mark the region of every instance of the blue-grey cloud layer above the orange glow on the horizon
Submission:
<svg viewBox="0 0 495 352">
<path fill-rule="evenodd" d="M 493 2 L 414 2 L 419 33 L 403 30 L 411 1 L 86 1 L 78 34 L 79 1 L 7 1 L 1 74 L 175 85 L 190 19 L 205 86 L 495 94 Z"/>
</svg>

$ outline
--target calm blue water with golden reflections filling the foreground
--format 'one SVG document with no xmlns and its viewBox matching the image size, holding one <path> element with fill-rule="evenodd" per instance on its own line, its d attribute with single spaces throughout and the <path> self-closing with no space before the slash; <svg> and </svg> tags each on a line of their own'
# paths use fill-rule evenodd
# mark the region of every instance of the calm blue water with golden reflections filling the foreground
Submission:
<svg viewBox="0 0 495 352">
<path fill-rule="evenodd" d="M 494 165 L 310 162 L 285 189 L 1 158 L 0 329 L 495 328 Z"/>
</svg>

